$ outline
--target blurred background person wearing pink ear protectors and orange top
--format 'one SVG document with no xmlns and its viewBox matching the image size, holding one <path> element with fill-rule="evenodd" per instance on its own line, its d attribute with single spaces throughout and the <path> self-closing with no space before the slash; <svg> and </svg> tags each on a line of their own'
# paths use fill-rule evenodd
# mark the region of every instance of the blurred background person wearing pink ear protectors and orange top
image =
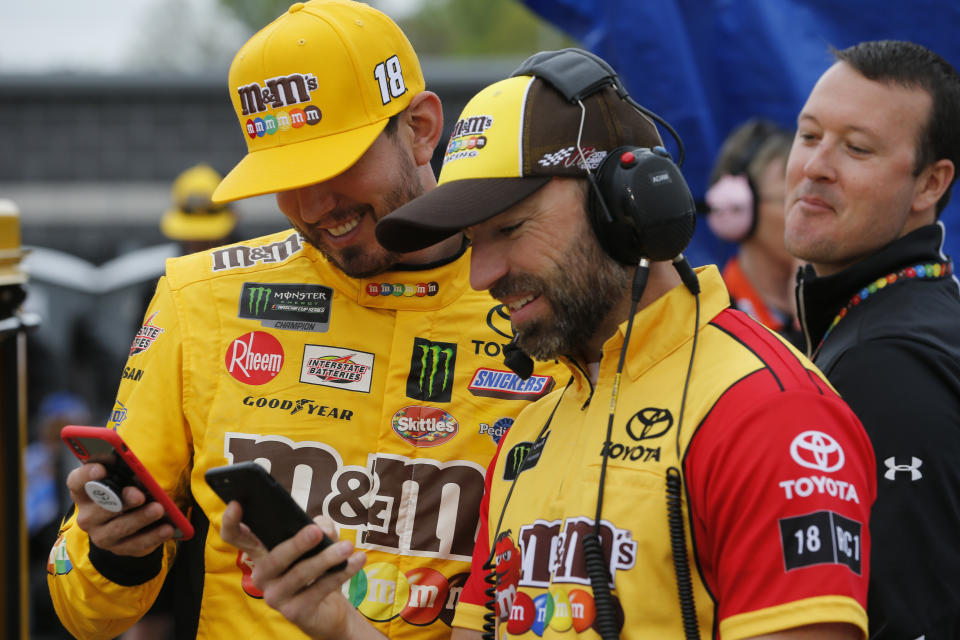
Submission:
<svg viewBox="0 0 960 640">
<path fill-rule="evenodd" d="M 799 346 L 797 261 L 783 242 L 784 174 L 793 136 L 755 118 L 727 137 L 710 176 L 707 225 L 737 245 L 723 268 L 733 305 Z"/>
</svg>

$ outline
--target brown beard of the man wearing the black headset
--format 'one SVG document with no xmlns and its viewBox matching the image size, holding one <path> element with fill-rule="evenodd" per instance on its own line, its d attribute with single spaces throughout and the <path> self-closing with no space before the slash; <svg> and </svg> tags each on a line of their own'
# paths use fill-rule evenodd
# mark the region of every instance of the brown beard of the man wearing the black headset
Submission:
<svg viewBox="0 0 960 640">
<path fill-rule="evenodd" d="M 508 275 L 490 288 L 495 298 L 533 293 L 545 298 L 552 317 L 514 327 L 517 346 L 537 360 L 569 356 L 593 337 L 630 289 L 631 267 L 608 256 L 589 230 L 544 275 Z"/>
</svg>

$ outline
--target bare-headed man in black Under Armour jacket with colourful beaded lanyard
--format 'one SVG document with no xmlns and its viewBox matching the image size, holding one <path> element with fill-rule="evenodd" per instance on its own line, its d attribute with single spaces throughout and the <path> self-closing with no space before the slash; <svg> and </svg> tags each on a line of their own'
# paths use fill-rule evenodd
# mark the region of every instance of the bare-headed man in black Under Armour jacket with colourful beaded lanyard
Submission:
<svg viewBox="0 0 960 640">
<path fill-rule="evenodd" d="M 960 74 L 911 42 L 834 56 L 787 161 L 805 347 L 876 455 L 870 638 L 960 638 Z"/>
</svg>

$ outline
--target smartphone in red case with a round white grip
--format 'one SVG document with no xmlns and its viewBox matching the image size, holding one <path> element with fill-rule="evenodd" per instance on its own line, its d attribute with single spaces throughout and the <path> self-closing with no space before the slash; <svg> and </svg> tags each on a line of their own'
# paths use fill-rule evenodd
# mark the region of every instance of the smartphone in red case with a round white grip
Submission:
<svg viewBox="0 0 960 640">
<path fill-rule="evenodd" d="M 71 424 L 60 430 L 60 438 L 81 462 L 99 462 L 106 467 L 105 478 L 91 480 L 84 486 L 91 500 L 108 511 L 119 512 L 123 508 L 123 488 L 135 486 L 163 506 L 165 516 L 161 522 L 173 525 L 174 538 L 189 540 L 193 537 L 190 521 L 116 431 Z"/>
</svg>

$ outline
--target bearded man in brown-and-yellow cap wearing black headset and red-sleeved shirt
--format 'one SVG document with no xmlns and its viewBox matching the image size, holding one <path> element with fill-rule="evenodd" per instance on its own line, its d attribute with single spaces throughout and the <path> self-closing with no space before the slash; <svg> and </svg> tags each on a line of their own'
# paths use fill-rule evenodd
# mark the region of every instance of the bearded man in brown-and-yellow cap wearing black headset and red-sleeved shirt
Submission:
<svg viewBox="0 0 960 640">
<path fill-rule="evenodd" d="M 807 359 L 729 308 L 715 267 L 679 256 L 693 199 L 608 71 L 564 50 L 487 87 L 440 186 L 377 225 L 401 251 L 466 230 L 471 285 L 572 376 L 501 440 L 454 637 L 863 638 L 866 434 Z M 320 576 L 343 556 L 295 562 L 304 542 L 260 578 L 329 637 L 343 575 Z"/>
</svg>

